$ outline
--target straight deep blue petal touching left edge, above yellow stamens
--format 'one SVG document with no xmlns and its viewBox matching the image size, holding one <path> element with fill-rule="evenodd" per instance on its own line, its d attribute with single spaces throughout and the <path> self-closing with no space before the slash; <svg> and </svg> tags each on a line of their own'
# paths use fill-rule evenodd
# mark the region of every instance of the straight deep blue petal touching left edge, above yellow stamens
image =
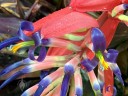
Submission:
<svg viewBox="0 0 128 96">
<path fill-rule="evenodd" d="M 9 46 L 9 45 L 11 45 L 11 44 L 13 44 L 13 43 L 18 42 L 18 41 L 20 41 L 18 36 L 9 38 L 7 40 L 4 40 L 4 41 L 0 42 L 0 50 L 5 48 L 5 47 L 7 47 L 7 46 Z"/>
</svg>

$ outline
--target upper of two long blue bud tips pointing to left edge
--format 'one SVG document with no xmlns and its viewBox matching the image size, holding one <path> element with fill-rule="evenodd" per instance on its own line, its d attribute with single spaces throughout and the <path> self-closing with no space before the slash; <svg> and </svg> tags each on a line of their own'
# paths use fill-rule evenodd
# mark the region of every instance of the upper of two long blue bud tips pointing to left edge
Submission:
<svg viewBox="0 0 128 96">
<path fill-rule="evenodd" d="M 24 59 L 24 60 L 22 60 L 22 61 L 16 62 L 16 63 L 14 63 L 14 64 L 12 64 L 12 65 L 6 67 L 4 70 L 2 70 L 2 71 L 0 72 L 0 76 L 3 76 L 3 75 L 5 75 L 5 74 L 9 73 L 10 71 L 12 71 L 12 70 L 14 70 L 14 69 L 20 67 L 20 66 L 29 65 L 29 64 L 32 64 L 32 63 L 33 63 L 33 61 L 30 60 L 29 58 L 26 58 L 26 59 Z"/>
</svg>

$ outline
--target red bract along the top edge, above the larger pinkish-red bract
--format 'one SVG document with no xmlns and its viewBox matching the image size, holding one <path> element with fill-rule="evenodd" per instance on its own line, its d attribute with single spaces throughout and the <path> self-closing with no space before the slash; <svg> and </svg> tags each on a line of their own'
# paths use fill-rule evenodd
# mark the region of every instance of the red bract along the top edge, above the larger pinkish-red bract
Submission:
<svg viewBox="0 0 128 96">
<path fill-rule="evenodd" d="M 111 11 L 119 4 L 121 4 L 121 0 L 72 0 L 70 6 L 75 11 L 88 12 Z"/>
</svg>

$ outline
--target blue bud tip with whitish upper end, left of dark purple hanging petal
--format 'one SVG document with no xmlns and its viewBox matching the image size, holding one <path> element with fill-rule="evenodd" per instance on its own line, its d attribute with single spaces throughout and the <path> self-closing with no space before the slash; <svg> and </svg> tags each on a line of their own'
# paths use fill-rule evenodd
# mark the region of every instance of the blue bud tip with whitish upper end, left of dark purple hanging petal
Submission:
<svg viewBox="0 0 128 96">
<path fill-rule="evenodd" d="M 52 82 L 52 80 L 48 77 L 42 79 L 39 83 L 39 87 L 36 90 L 34 96 L 40 96 L 44 89 Z"/>
</svg>

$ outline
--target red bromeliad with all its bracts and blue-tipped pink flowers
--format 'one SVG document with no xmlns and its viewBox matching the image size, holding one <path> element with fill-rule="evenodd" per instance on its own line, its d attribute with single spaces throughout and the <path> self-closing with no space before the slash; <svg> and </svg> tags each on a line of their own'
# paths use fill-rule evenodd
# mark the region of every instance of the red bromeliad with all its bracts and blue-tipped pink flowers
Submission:
<svg viewBox="0 0 128 96">
<path fill-rule="evenodd" d="M 128 5 L 124 3 L 128 3 L 128 0 L 71 0 L 68 7 L 33 24 L 21 22 L 18 35 L 1 42 L 0 49 L 11 44 L 14 44 L 13 52 L 29 47 L 28 58 L 0 72 L 3 76 L 24 66 L 3 82 L 0 88 L 21 75 L 41 71 L 41 81 L 22 96 L 83 96 L 80 70 L 85 70 L 96 96 L 115 95 L 113 73 L 124 85 L 116 64 L 118 51 L 107 51 L 106 48 L 120 20 L 127 24 L 128 17 L 122 11 Z M 87 14 L 90 11 L 103 13 L 96 20 Z M 40 47 L 39 56 L 34 56 L 37 47 Z M 49 47 L 48 52 L 45 47 Z M 93 71 L 97 66 L 98 78 Z M 51 72 L 52 68 L 56 70 Z"/>
</svg>

